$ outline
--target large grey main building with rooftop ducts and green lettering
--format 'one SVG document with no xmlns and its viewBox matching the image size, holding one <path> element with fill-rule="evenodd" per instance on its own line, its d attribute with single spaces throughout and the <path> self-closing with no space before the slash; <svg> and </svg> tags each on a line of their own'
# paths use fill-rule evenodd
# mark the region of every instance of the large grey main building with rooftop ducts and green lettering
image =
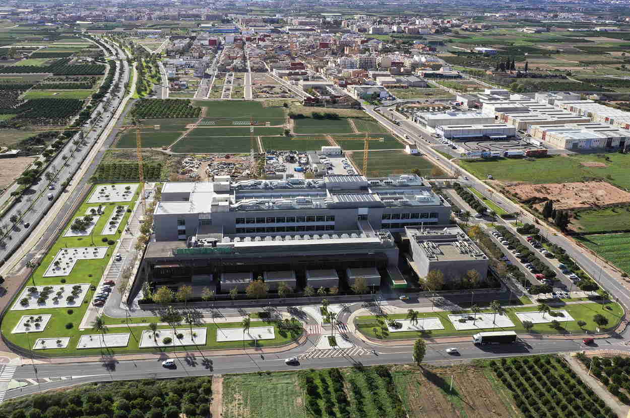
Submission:
<svg viewBox="0 0 630 418">
<path fill-rule="evenodd" d="M 399 276 L 392 233 L 449 224 L 450 212 L 417 175 L 166 183 L 144 277 L 219 292 L 243 290 L 258 277 L 270 288 L 296 280 L 332 287 L 356 277 L 379 285 L 381 273 Z"/>
</svg>

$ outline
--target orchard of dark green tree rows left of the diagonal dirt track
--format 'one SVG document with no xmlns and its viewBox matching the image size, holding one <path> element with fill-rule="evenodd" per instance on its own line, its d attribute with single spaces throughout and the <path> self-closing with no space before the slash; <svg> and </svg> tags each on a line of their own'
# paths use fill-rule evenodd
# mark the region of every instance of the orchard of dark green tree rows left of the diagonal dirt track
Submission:
<svg viewBox="0 0 630 418">
<path fill-rule="evenodd" d="M 617 416 L 560 358 L 501 358 L 490 366 L 525 418 Z"/>
</svg>

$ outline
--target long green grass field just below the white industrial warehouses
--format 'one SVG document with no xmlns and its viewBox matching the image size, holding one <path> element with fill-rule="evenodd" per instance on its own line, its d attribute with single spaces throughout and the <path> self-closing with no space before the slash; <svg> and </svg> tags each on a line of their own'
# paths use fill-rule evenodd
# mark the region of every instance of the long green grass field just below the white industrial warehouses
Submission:
<svg viewBox="0 0 630 418">
<path fill-rule="evenodd" d="M 461 160 L 459 165 L 479 179 L 491 174 L 495 180 L 528 182 L 533 184 L 580 182 L 585 179 L 602 179 L 617 187 L 630 187 L 630 155 L 619 153 L 602 154 L 610 161 L 597 157 L 597 154 L 557 155 L 527 161 L 518 158 L 498 158 L 496 160 Z M 583 161 L 605 163 L 607 167 L 584 167 Z M 610 175 L 610 179 L 607 176 Z"/>
</svg>

